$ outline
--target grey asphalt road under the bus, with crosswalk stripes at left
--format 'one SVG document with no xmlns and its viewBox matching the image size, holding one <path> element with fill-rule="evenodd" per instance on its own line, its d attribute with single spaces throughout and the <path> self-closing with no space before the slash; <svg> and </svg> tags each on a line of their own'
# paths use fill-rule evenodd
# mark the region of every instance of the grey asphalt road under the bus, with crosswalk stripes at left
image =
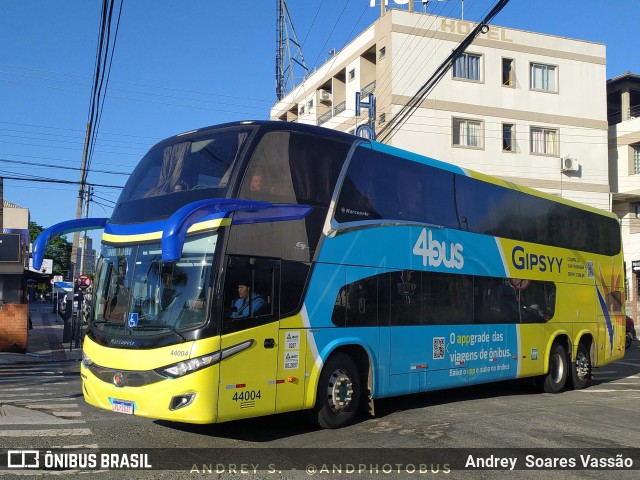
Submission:
<svg viewBox="0 0 640 480">
<path fill-rule="evenodd" d="M 527 455 L 534 465 L 557 457 L 573 458 L 579 466 L 581 454 L 606 448 L 614 459 L 622 452 L 619 459 L 640 468 L 638 342 L 623 361 L 595 370 L 593 385 L 585 390 L 543 394 L 532 383 L 520 381 L 381 400 L 375 418 L 362 416 L 340 430 L 313 428 L 304 413 L 206 426 L 153 421 L 90 407 L 82 399 L 80 385 L 77 362 L 0 368 L 1 447 L 132 453 L 162 449 L 152 450 L 156 459 L 161 453 L 163 461 L 190 465 L 172 471 L 85 471 L 100 478 L 310 477 L 304 470 L 289 470 L 292 462 L 312 465 L 315 478 L 639 476 L 638 470 L 607 466 L 581 470 L 556 466 L 551 471 L 524 466 Z M 517 469 L 472 468 L 470 455 L 472 463 L 477 458 L 517 457 Z M 250 466 L 253 462 L 265 468 L 272 461 L 273 472 L 254 473 Z M 338 462 L 337 469 L 332 462 Z M 460 462 L 464 470 L 452 468 Z M 383 468 L 395 464 L 403 466 Z M 349 465 L 356 471 L 358 465 L 366 468 L 357 473 L 349 471 Z M 447 473 L 448 469 L 452 471 Z M 57 473 L 80 472 L 83 469 L 60 468 Z"/>
</svg>

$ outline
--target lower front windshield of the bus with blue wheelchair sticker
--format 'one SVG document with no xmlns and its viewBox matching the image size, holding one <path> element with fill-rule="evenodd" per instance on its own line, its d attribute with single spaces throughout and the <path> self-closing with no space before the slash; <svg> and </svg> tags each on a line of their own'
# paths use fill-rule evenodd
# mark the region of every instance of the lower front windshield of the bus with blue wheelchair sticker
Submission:
<svg viewBox="0 0 640 480">
<path fill-rule="evenodd" d="M 159 243 L 103 245 L 92 328 L 135 337 L 202 326 L 217 239 L 217 233 L 187 238 L 177 262 L 162 261 Z"/>
</svg>

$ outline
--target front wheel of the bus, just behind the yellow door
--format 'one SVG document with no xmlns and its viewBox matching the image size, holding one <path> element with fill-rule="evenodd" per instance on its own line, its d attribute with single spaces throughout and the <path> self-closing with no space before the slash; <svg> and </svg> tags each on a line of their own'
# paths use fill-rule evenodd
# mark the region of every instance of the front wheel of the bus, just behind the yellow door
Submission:
<svg viewBox="0 0 640 480">
<path fill-rule="evenodd" d="M 349 425 L 360 406 L 360 375 L 354 361 L 344 353 L 336 353 L 325 363 L 312 420 L 322 428 Z"/>
</svg>

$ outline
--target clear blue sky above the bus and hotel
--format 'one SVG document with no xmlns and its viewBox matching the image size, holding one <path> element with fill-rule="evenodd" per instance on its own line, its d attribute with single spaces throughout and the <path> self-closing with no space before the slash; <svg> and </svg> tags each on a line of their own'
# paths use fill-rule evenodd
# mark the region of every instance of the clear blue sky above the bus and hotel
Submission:
<svg viewBox="0 0 640 480">
<path fill-rule="evenodd" d="M 310 70 L 380 15 L 379 1 L 287 0 Z M 429 2 L 478 21 L 497 0 Z M 117 0 L 116 5 L 119 5 Z M 406 1 L 400 0 L 400 3 Z M 158 141 L 268 119 L 276 101 L 277 0 L 123 0 L 92 156 L 89 216 L 111 214 L 127 175 Z M 0 0 L 0 176 L 78 181 L 102 2 Z M 389 0 L 391 8 L 406 8 Z M 421 10 L 416 2 L 416 10 Z M 640 0 L 511 0 L 492 24 L 607 46 L 607 78 L 640 74 Z M 43 166 L 47 165 L 47 166 Z M 75 218 L 77 185 L 5 178 L 4 198 L 43 227 Z M 94 242 L 100 233 L 93 233 Z M 71 238 L 70 236 L 68 237 Z"/>
</svg>

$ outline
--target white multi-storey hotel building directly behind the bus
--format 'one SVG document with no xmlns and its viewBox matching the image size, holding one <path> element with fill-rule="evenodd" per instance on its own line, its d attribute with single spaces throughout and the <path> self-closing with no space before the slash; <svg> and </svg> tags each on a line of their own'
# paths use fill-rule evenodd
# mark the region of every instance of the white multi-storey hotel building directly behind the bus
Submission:
<svg viewBox="0 0 640 480">
<path fill-rule="evenodd" d="M 378 135 L 476 24 L 389 10 L 271 110 L 353 132 L 356 92 Z M 611 210 L 606 52 L 491 26 L 385 143 Z M 568 168 L 567 168 L 568 167 Z"/>
</svg>

